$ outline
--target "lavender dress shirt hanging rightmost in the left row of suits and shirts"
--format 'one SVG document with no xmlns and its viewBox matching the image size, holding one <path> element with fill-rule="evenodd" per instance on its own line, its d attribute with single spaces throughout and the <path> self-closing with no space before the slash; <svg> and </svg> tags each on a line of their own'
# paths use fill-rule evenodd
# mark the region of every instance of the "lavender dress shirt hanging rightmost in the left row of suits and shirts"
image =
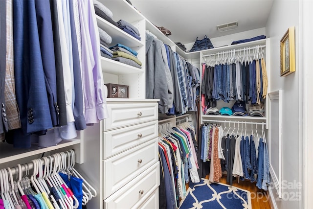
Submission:
<svg viewBox="0 0 313 209">
<path fill-rule="evenodd" d="M 91 0 L 78 1 L 82 34 L 82 84 L 87 124 L 109 116 L 100 63 L 100 38 Z"/>
</svg>

